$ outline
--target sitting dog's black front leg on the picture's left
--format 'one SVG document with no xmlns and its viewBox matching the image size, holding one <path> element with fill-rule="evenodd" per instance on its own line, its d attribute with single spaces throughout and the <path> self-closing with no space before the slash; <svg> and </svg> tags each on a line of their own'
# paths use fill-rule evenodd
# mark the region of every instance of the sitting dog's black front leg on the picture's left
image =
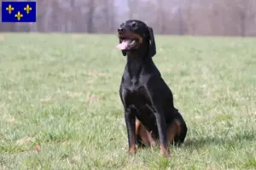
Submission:
<svg viewBox="0 0 256 170">
<path fill-rule="evenodd" d="M 135 115 L 132 113 L 131 107 L 125 108 L 125 124 L 128 134 L 128 143 L 130 154 L 136 153 L 136 142 L 135 142 Z"/>
</svg>

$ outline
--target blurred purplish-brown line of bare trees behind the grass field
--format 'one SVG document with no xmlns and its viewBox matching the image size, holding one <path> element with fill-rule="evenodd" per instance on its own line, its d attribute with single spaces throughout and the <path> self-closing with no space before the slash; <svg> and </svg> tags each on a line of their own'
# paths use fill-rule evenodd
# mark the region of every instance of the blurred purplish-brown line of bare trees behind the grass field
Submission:
<svg viewBox="0 0 256 170">
<path fill-rule="evenodd" d="M 256 0 L 38 0 L 37 23 L 0 31 L 114 33 L 137 19 L 156 34 L 256 36 Z"/>
</svg>

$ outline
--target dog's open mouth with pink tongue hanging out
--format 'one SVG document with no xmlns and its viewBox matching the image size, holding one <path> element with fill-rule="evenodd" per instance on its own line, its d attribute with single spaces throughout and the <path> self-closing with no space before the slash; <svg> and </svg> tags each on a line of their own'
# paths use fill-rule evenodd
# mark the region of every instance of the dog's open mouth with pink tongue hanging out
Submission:
<svg viewBox="0 0 256 170">
<path fill-rule="evenodd" d="M 142 38 L 137 34 L 133 34 L 131 37 L 119 36 L 120 43 L 116 46 L 121 50 L 131 50 L 137 48 L 138 45 L 142 42 Z"/>
</svg>

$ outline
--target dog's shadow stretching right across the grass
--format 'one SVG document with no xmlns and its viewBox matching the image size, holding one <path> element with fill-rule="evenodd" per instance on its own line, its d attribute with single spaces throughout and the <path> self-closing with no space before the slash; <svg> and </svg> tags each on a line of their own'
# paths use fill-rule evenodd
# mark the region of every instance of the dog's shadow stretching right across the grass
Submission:
<svg viewBox="0 0 256 170">
<path fill-rule="evenodd" d="M 214 146 L 214 145 L 228 145 L 235 146 L 240 143 L 244 143 L 246 141 L 255 141 L 256 135 L 254 133 L 236 133 L 236 135 L 232 137 L 218 136 L 218 137 L 200 137 L 187 139 L 183 147 L 185 148 L 202 148 L 206 146 Z"/>
</svg>

